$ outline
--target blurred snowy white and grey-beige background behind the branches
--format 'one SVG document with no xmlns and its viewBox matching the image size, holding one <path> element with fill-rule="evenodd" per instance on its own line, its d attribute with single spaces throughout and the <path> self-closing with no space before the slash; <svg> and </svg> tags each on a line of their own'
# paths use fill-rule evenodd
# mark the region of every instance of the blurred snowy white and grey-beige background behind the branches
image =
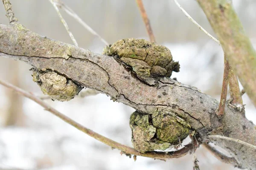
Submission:
<svg viewBox="0 0 256 170">
<path fill-rule="evenodd" d="M 135 0 L 63 0 L 107 42 L 122 38 L 148 40 Z M 179 0 L 181 6 L 210 34 L 213 31 L 195 0 Z M 72 44 L 55 9 L 48 0 L 11 0 L 19 22 L 49 38 Z M 143 0 L 158 44 L 167 46 L 179 61 L 177 80 L 219 100 L 223 77 L 221 47 L 200 31 L 172 0 Z M 244 29 L 256 46 L 256 1 L 233 0 Z M 101 53 L 105 46 L 72 17 L 61 11 L 80 47 Z M 0 4 L 0 23 L 8 24 Z M 0 79 L 43 96 L 32 81 L 30 65 L 0 58 Z M 242 87 L 241 87 L 242 88 Z M 83 91 L 86 91 L 84 89 Z M 256 123 L 255 108 L 243 96 L 247 119 Z M 53 102 L 58 111 L 82 125 L 122 144 L 131 146 L 129 116 L 134 111 L 113 102 L 105 94 Z M 233 170 L 204 148 L 196 151 L 201 170 Z M 0 86 L 0 170 L 191 170 L 192 155 L 160 161 L 120 155 L 119 150 L 81 133 L 51 113 L 13 91 Z"/>
</svg>

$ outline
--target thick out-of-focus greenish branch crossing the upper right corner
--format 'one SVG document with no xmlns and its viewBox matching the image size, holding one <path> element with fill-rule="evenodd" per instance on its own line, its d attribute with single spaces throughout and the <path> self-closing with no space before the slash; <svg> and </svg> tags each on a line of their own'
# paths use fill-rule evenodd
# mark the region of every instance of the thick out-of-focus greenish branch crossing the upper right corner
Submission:
<svg viewBox="0 0 256 170">
<path fill-rule="evenodd" d="M 231 0 L 197 0 L 221 42 L 231 68 L 256 106 L 256 52 Z"/>
</svg>

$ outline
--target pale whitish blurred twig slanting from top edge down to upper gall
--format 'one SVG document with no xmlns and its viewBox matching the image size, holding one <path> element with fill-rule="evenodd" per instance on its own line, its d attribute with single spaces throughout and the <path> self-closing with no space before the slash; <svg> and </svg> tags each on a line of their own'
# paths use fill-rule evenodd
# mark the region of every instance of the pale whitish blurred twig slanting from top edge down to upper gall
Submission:
<svg viewBox="0 0 256 170">
<path fill-rule="evenodd" d="M 67 14 L 73 17 L 77 22 L 79 22 L 84 28 L 86 28 L 91 34 L 97 36 L 105 45 L 109 45 L 109 43 L 104 40 L 96 31 L 93 30 L 90 26 L 88 26 L 70 7 L 65 5 L 61 0 L 54 0 L 56 5 L 59 8 L 63 9 Z"/>
</svg>

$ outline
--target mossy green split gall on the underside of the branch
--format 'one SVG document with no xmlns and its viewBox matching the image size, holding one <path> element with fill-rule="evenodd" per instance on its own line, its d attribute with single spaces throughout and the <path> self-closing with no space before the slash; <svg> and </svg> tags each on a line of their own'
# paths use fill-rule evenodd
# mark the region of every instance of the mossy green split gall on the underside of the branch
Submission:
<svg viewBox="0 0 256 170">
<path fill-rule="evenodd" d="M 190 132 L 190 125 L 172 111 L 159 110 L 150 114 L 135 111 L 130 117 L 134 149 L 145 153 L 176 147 Z"/>
</svg>

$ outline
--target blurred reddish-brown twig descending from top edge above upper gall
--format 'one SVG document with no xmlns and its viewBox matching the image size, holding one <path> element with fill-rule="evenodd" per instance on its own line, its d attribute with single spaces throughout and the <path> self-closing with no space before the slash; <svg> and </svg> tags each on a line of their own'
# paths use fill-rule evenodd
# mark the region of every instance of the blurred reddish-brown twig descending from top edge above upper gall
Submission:
<svg viewBox="0 0 256 170">
<path fill-rule="evenodd" d="M 136 0 L 136 2 L 137 2 L 137 5 L 138 5 L 138 7 L 140 9 L 141 17 L 143 18 L 144 24 L 146 26 L 148 37 L 149 37 L 151 42 L 156 42 L 154 34 L 153 34 L 153 30 L 152 30 L 152 28 L 150 26 L 148 15 L 147 15 L 147 13 L 145 11 L 145 8 L 143 6 L 143 2 L 142 2 L 142 0 Z"/>
</svg>

